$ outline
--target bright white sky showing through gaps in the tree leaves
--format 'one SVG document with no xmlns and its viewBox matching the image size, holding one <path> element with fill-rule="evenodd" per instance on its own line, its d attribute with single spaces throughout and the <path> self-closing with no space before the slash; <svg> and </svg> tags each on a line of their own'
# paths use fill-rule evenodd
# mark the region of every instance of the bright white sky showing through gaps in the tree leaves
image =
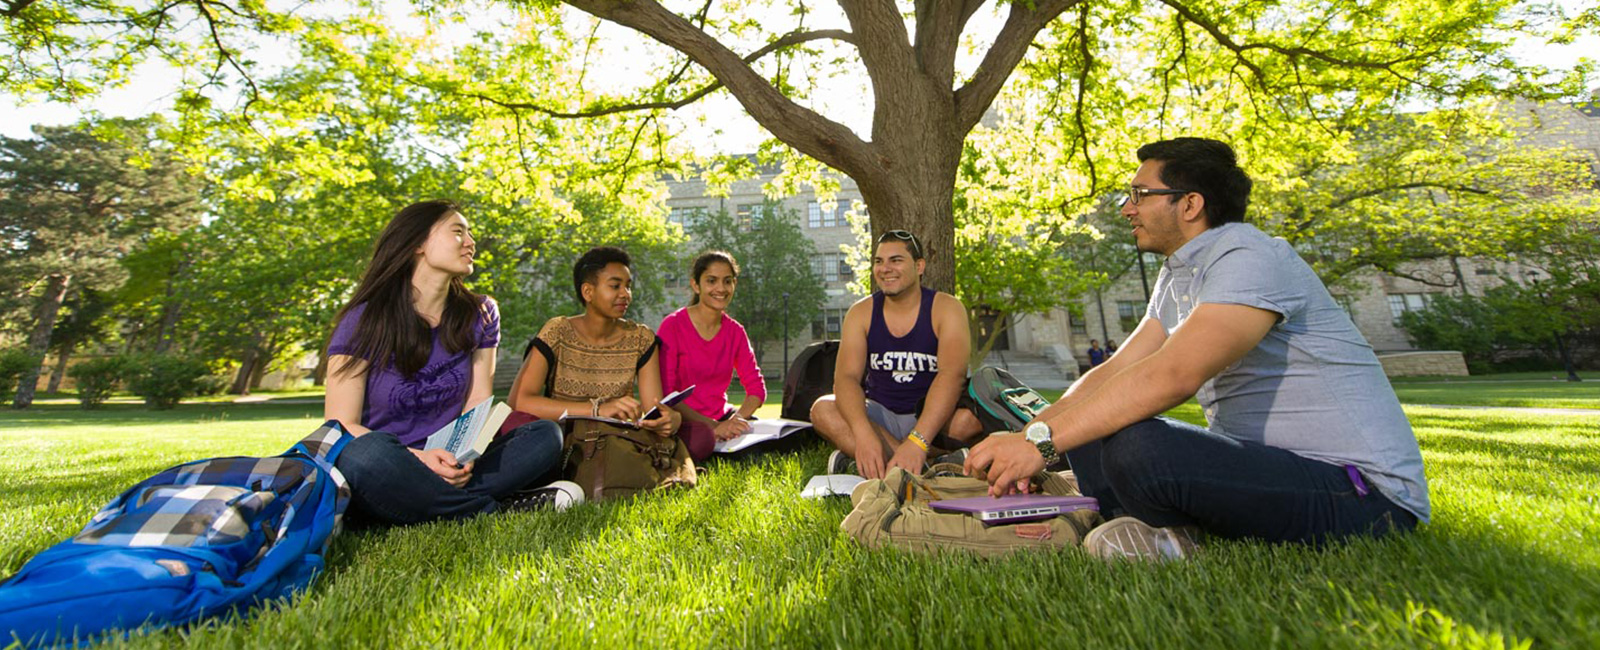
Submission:
<svg viewBox="0 0 1600 650">
<path fill-rule="evenodd" d="M 398 0 L 392 0 L 397 2 Z M 1578 10 L 1586 0 L 1560 0 L 1570 11 Z M 398 6 L 398 5 L 397 5 Z M 821 8 L 835 8 L 830 3 L 821 3 Z M 842 16 L 826 16 L 814 14 L 813 26 L 843 26 Z M 582 16 L 581 19 L 587 19 Z M 976 32 L 979 38 L 984 34 L 992 34 L 998 29 L 998 18 L 989 14 L 979 14 L 974 19 L 970 32 Z M 605 24 L 605 30 L 610 30 L 611 43 L 627 43 L 632 38 L 632 32 L 624 27 Z M 1552 69 L 1570 69 L 1581 56 L 1595 59 L 1595 53 L 1600 53 L 1600 37 L 1589 37 L 1574 42 L 1566 46 L 1539 46 L 1534 43 L 1518 45 L 1515 54 L 1518 61 L 1544 64 Z M 256 56 L 259 61 L 266 62 L 269 67 L 274 66 L 274 54 L 270 48 L 262 56 Z M 616 45 L 606 53 L 606 58 L 600 61 L 597 69 L 589 75 L 589 78 L 613 78 L 618 83 L 638 83 L 645 78 L 645 70 L 638 64 L 648 59 L 640 56 L 640 51 L 627 45 Z M 974 67 L 971 54 L 965 56 L 966 61 L 960 64 L 962 69 L 970 70 Z M 285 64 L 280 58 L 277 66 Z M 845 123 L 853 128 L 858 134 L 866 138 L 870 130 L 870 94 L 864 80 L 866 74 L 851 75 L 846 78 L 834 78 L 824 82 L 826 85 L 819 93 L 813 94 L 811 107 L 821 114 Z M 32 125 L 62 125 L 78 120 L 85 110 L 94 110 L 110 117 L 138 117 L 147 115 L 150 112 L 158 112 L 168 107 L 171 98 L 178 88 L 178 72 L 166 67 L 162 62 L 147 62 L 133 80 L 120 88 L 112 88 L 94 98 L 83 106 L 66 106 L 58 102 L 32 102 L 22 98 L 0 93 L 0 134 L 8 138 L 27 138 L 30 136 Z M 680 110 L 674 115 L 680 120 L 685 128 L 685 138 L 680 142 L 693 142 L 696 152 L 702 155 L 725 154 L 725 152 L 752 152 L 760 142 L 768 136 L 755 123 L 755 120 L 744 115 L 739 102 L 733 99 L 728 93 L 714 93 L 712 96 Z"/>
</svg>

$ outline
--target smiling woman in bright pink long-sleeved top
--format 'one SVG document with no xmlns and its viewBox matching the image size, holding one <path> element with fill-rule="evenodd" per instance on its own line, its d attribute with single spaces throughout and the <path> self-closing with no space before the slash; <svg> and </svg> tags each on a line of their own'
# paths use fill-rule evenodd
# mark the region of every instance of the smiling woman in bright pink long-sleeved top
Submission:
<svg viewBox="0 0 1600 650">
<path fill-rule="evenodd" d="M 739 283 L 739 264 L 723 251 L 701 253 L 690 271 L 690 306 L 667 314 L 656 328 L 661 338 L 661 389 L 694 386 L 694 394 L 677 407 L 683 415 L 678 435 L 690 456 L 702 461 L 717 440 L 750 431 L 750 416 L 766 402 L 766 381 L 755 365 L 755 351 L 744 325 L 728 315 L 728 303 Z M 744 403 L 728 403 L 728 384 L 739 373 Z"/>
</svg>

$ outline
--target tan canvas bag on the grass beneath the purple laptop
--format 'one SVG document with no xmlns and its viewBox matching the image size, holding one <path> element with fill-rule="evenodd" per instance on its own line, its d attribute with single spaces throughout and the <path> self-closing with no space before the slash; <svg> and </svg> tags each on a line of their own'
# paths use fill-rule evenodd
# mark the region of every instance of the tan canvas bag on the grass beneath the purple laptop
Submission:
<svg viewBox="0 0 1600 650">
<path fill-rule="evenodd" d="M 1082 546 L 1083 536 L 1101 524 L 1099 512 L 1074 511 L 1037 522 L 984 525 L 968 514 L 928 508 L 930 501 L 989 493 L 989 483 L 958 472 L 958 466 L 933 466 L 915 475 L 894 467 L 882 480 L 867 480 L 851 492 L 854 509 L 840 528 L 869 548 L 965 551 L 994 557 L 1024 549 Z M 1069 479 L 1056 472 L 1040 472 L 1034 485 L 1045 495 L 1078 493 Z"/>
</svg>

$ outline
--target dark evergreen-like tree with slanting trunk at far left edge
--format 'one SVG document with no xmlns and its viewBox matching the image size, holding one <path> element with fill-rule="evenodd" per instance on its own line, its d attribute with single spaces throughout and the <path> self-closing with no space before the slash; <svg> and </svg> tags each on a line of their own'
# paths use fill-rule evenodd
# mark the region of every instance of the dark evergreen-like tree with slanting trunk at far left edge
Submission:
<svg viewBox="0 0 1600 650">
<path fill-rule="evenodd" d="M 0 277 L 38 298 L 27 352 L 43 359 L 67 291 L 117 288 L 118 259 L 157 232 L 198 223 L 197 183 L 155 136 L 154 122 L 35 126 L 0 138 Z M 14 407 L 34 402 L 38 370 L 24 373 Z"/>
</svg>

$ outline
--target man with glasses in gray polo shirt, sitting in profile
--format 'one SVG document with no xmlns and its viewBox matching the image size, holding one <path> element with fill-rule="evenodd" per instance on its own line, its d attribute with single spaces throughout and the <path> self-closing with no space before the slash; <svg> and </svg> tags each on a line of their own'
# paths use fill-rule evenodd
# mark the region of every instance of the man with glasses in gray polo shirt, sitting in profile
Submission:
<svg viewBox="0 0 1600 650">
<path fill-rule="evenodd" d="M 1112 519 L 1102 557 L 1182 557 L 1198 533 L 1325 543 L 1429 517 L 1411 424 L 1371 346 L 1283 240 L 1245 224 L 1250 176 L 1214 139 L 1139 147 L 1122 215 L 1168 256 L 1144 320 L 1021 434 L 978 445 L 995 495 L 1058 450 Z M 1198 399 L 1210 427 L 1157 415 Z"/>
</svg>

